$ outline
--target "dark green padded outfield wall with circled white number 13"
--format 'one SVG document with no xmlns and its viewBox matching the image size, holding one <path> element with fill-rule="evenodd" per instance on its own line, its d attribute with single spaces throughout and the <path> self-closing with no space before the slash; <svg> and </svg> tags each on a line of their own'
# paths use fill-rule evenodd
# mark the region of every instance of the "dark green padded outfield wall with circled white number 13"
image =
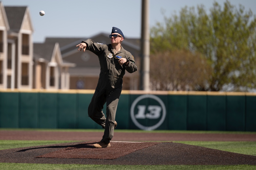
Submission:
<svg viewBox="0 0 256 170">
<path fill-rule="evenodd" d="M 101 129 L 94 90 L 2 90 L 0 128 Z M 123 90 L 118 129 L 256 131 L 256 93 Z M 103 108 L 105 112 L 106 106 Z"/>
</svg>

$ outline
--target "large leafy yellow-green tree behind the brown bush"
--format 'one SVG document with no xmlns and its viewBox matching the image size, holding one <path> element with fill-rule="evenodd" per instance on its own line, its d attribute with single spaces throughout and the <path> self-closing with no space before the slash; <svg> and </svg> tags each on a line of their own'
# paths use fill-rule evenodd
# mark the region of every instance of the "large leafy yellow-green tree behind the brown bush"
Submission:
<svg viewBox="0 0 256 170">
<path fill-rule="evenodd" d="M 175 50 L 200 54 L 212 68 L 202 68 L 210 71 L 209 77 L 203 84 L 192 84 L 193 89 L 256 87 L 256 17 L 251 10 L 245 12 L 242 5 L 237 9 L 226 1 L 222 8 L 214 2 L 209 14 L 201 5 L 197 10 L 182 8 L 179 16 L 165 16 L 164 25 L 157 23 L 151 29 L 151 58 Z M 194 67 L 192 64 L 190 68 Z"/>
</svg>

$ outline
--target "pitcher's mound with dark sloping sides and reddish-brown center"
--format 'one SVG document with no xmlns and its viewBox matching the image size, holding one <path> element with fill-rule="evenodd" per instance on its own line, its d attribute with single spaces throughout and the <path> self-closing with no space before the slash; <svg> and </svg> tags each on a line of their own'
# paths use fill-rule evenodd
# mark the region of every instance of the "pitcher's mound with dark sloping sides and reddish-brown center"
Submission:
<svg viewBox="0 0 256 170">
<path fill-rule="evenodd" d="M 256 156 L 173 142 L 111 142 L 94 149 L 96 141 L 6 149 L 0 162 L 109 165 L 256 165 Z M 98 156 L 98 157 L 97 157 Z"/>
</svg>

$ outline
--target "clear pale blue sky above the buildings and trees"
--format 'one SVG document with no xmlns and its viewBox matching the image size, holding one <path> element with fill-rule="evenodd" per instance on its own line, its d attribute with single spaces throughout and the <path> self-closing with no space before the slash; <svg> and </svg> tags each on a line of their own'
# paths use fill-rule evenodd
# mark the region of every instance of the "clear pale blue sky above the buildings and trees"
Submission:
<svg viewBox="0 0 256 170">
<path fill-rule="evenodd" d="M 110 33 L 112 27 L 120 28 L 128 38 L 141 36 L 141 0 L 1 0 L 4 6 L 28 6 L 34 26 L 34 42 L 46 37 L 90 37 L 100 32 Z M 164 17 L 178 14 L 180 9 L 204 5 L 209 10 L 214 0 L 150 0 L 150 27 L 163 22 Z M 223 6 L 226 0 L 216 0 Z M 237 8 L 256 15 L 255 0 L 230 0 Z M 40 16 L 39 11 L 45 15 Z"/>
</svg>

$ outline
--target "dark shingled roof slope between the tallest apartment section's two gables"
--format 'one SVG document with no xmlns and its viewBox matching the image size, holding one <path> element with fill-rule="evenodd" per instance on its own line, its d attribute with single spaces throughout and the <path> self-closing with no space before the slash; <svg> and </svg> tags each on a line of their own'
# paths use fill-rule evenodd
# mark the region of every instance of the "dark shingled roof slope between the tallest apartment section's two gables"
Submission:
<svg viewBox="0 0 256 170">
<path fill-rule="evenodd" d="M 10 31 L 19 32 L 27 7 L 5 6 Z"/>
</svg>

